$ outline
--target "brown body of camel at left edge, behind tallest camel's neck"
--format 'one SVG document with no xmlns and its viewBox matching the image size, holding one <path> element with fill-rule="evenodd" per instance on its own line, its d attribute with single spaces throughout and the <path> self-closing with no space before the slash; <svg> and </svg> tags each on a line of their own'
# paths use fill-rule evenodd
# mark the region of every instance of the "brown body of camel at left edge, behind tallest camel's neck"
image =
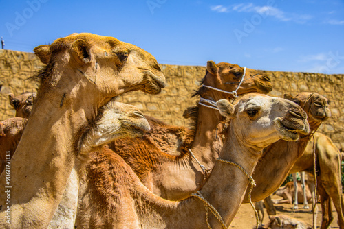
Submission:
<svg viewBox="0 0 344 229">
<path fill-rule="evenodd" d="M 6 164 L 10 165 L 27 121 L 28 119 L 14 117 L 0 122 L 0 174 Z"/>
</svg>

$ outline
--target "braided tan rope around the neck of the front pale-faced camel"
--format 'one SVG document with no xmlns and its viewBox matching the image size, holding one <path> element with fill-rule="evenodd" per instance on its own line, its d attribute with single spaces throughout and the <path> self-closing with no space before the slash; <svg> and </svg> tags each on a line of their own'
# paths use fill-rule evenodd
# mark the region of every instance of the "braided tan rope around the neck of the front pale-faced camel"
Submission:
<svg viewBox="0 0 344 229">
<path fill-rule="evenodd" d="M 250 204 L 251 204 L 253 210 L 255 211 L 255 216 L 256 216 L 256 220 L 257 220 L 257 226 L 256 226 L 256 229 L 257 229 L 259 226 L 259 216 L 258 216 L 257 210 L 256 210 L 256 208 L 253 205 L 252 200 L 251 200 L 252 189 L 256 186 L 255 180 L 253 180 L 252 176 L 250 176 L 250 174 L 248 174 L 245 171 L 245 169 L 243 167 L 241 167 L 241 165 L 238 165 L 237 163 L 235 163 L 233 161 L 224 160 L 222 158 L 217 158 L 216 160 L 218 160 L 220 162 L 225 162 L 229 165 L 234 165 L 235 167 L 238 167 L 248 177 L 248 180 L 250 180 L 251 187 L 250 187 L 250 191 L 248 192 L 248 200 L 250 201 Z M 222 225 L 222 228 L 228 229 L 226 224 L 224 223 L 224 219 L 222 219 L 221 215 L 219 215 L 219 212 L 213 207 L 213 205 L 211 205 L 206 199 L 204 199 L 204 197 L 202 196 L 200 191 L 197 191 L 196 193 L 191 194 L 191 196 L 197 197 L 198 199 L 200 199 L 203 202 L 204 207 L 206 209 L 206 224 L 208 225 L 209 229 L 212 229 L 212 228 L 211 228 L 211 225 L 209 224 L 208 209 L 210 209 L 211 213 L 213 213 L 213 215 L 215 215 L 215 217 L 219 220 L 220 224 Z"/>
</svg>

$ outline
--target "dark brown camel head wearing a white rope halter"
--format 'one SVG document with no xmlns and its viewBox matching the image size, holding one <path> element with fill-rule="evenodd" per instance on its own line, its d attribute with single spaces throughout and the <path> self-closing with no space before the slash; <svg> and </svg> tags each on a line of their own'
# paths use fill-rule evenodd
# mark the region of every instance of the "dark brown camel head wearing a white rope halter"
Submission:
<svg viewBox="0 0 344 229">
<path fill-rule="evenodd" d="M 202 84 L 231 92 L 237 89 L 243 75 L 244 68 L 237 64 L 229 64 L 226 62 L 215 64 L 213 61 L 208 61 L 206 67 L 206 76 L 202 80 Z M 201 87 L 198 91 L 198 94 L 201 97 L 204 97 L 204 93 L 206 93 L 208 90 L 210 89 Z M 237 95 L 243 95 L 251 92 L 266 94 L 270 91 L 272 91 L 272 84 L 269 77 L 263 71 L 246 69 L 244 80 L 237 89 Z M 228 94 L 224 94 L 217 98 L 225 99 L 227 97 Z"/>
</svg>

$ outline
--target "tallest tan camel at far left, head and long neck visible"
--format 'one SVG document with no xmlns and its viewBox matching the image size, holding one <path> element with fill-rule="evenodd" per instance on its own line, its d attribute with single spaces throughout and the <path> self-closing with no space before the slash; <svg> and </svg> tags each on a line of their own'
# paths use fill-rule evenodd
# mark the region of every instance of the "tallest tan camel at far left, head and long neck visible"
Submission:
<svg viewBox="0 0 344 229">
<path fill-rule="evenodd" d="M 0 176 L 1 228 L 47 228 L 78 162 L 78 130 L 112 97 L 155 94 L 165 85 L 151 54 L 116 38 L 72 34 L 34 52 L 46 66 L 36 76 L 39 90 L 10 180 Z"/>
</svg>

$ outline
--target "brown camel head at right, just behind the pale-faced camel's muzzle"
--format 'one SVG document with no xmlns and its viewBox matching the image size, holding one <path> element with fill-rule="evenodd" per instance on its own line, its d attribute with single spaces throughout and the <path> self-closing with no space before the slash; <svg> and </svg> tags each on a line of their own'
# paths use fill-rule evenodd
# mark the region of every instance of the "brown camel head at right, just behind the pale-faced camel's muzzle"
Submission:
<svg viewBox="0 0 344 229">
<path fill-rule="evenodd" d="M 293 97 L 290 93 L 284 94 L 284 98 L 299 104 L 308 115 L 309 123 L 321 123 L 331 117 L 329 100 L 318 93 L 299 93 Z"/>
</svg>

